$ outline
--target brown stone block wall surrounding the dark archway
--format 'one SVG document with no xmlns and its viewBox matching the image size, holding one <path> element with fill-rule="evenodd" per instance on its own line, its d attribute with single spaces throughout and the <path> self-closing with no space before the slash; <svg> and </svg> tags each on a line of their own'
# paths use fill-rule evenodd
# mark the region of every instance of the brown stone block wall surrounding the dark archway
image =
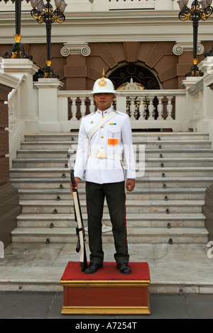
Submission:
<svg viewBox="0 0 213 333">
<path fill-rule="evenodd" d="M 200 42 L 202 55 L 212 47 L 212 42 Z M 25 46 L 25 45 L 24 45 Z M 5 48 L 6 47 L 6 48 Z M 180 54 L 177 49 L 180 47 Z M 10 50 L 11 45 L 0 45 L 0 52 Z M 178 49 L 179 50 L 179 49 Z M 182 52 L 183 50 L 183 52 Z M 187 52 L 185 52 L 187 50 Z M 29 44 L 28 52 L 39 67 L 46 65 L 46 45 Z M 64 83 L 64 90 L 90 90 L 94 81 L 105 69 L 107 76 L 123 64 L 141 64 L 153 70 L 161 89 L 182 89 L 180 81 L 192 65 L 192 43 L 174 42 L 115 42 L 115 43 L 52 43 L 51 66 Z"/>
</svg>

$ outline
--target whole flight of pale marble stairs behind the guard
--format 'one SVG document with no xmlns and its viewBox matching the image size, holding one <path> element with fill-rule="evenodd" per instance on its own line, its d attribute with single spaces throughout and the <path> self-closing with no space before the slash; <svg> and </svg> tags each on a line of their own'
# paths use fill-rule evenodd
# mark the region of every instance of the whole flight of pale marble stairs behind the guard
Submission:
<svg viewBox="0 0 213 333">
<path fill-rule="evenodd" d="M 202 215 L 207 186 L 213 183 L 213 149 L 208 135 L 194 132 L 133 132 L 136 188 L 127 193 L 129 243 L 207 244 Z M 143 148 L 145 159 L 143 161 Z M 75 159 L 77 133 L 26 135 L 10 170 L 22 213 L 13 242 L 76 243 L 70 195 L 69 158 Z M 142 149 L 142 150 L 140 150 Z M 84 181 L 80 201 L 87 226 Z M 113 243 L 107 205 L 103 242 Z"/>
</svg>

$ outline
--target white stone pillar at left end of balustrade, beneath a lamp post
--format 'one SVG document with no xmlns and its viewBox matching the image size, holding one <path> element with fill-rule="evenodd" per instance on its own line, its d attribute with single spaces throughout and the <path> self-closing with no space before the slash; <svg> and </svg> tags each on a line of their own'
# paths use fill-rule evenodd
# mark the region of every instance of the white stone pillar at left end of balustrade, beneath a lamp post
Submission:
<svg viewBox="0 0 213 333">
<path fill-rule="evenodd" d="M 59 79 L 38 79 L 38 123 L 40 132 L 60 132 L 58 121 L 58 89 L 63 86 Z"/>
</svg>

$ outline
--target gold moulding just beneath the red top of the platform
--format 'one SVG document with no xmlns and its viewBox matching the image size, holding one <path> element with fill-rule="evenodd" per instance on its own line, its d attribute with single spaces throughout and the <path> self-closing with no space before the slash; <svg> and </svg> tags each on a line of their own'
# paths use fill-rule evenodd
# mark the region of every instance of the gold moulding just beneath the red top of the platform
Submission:
<svg viewBox="0 0 213 333">
<path fill-rule="evenodd" d="M 64 287 L 146 287 L 150 280 L 61 280 Z"/>
</svg>

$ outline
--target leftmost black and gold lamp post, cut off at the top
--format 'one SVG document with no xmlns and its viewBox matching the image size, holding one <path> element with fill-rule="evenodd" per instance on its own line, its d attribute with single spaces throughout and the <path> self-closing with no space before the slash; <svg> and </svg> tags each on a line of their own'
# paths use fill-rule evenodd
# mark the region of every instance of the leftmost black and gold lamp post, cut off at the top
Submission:
<svg viewBox="0 0 213 333">
<path fill-rule="evenodd" d="M 1 1 L 1 0 L 0 0 Z M 7 3 L 9 0 L 4 0 Z M 22 0 L 11 0 L 13 3 L 15 2 L 15 15 L 16 15 L 16 35 L 15 42 L 11 47 L 11 53 L 5 52 L 3 57 L 9 59 L 16 59 L 16 58 L 26 58 L 32 60 L 33 57 L 28 55 L 28 52 L 24 51 L 23 45 L 21 44 L 21 1 Z M 26 0 L 29 2 L 29 0 Z"/>
</svg>

